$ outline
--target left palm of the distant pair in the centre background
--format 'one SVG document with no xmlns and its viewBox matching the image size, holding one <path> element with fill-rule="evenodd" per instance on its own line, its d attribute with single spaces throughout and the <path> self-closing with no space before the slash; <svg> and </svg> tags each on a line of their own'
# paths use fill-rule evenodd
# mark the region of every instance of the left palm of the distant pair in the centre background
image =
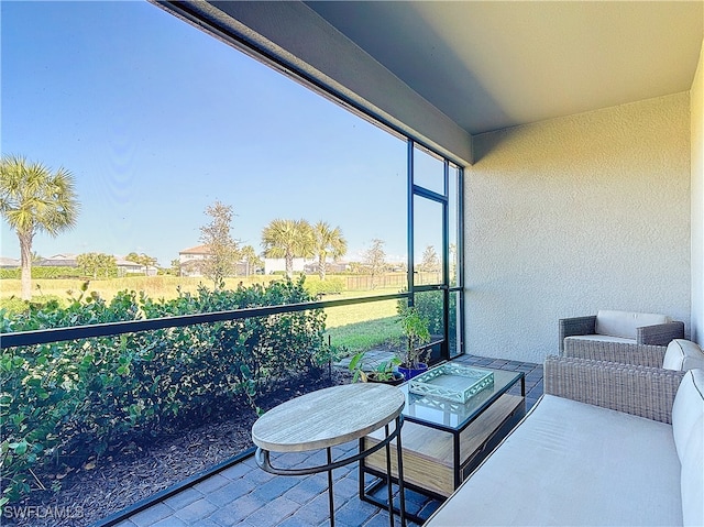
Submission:
<svg viewBox="0 0 704 527">
<path fill-rule="evenodd" d="M 264 256 L 286 260 L 286 274 L 294 275 L 294 259 L 315 253 L 315 237 L 306 220 L 276 219 L 262 231 Z"/>
</svg>

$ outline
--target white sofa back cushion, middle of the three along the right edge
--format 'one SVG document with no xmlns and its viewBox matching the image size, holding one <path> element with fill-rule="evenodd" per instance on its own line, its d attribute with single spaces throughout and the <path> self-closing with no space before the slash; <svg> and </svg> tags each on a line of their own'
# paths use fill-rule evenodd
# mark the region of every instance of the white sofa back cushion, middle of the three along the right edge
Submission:
<svg viewBox="0 0 704 527">
<path fill-rule="evenodd" d="M 686 372 L 672 403 L 672 436 L 682 461 L 684 450 L 694 433 L 694 425 L 704 416 L 704 370 Z"/>
</svg>

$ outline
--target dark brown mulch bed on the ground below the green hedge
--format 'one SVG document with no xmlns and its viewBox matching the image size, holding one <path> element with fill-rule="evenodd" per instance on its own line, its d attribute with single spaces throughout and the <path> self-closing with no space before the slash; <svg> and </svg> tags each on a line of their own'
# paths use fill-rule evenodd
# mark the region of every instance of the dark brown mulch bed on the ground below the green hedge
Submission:
<svg viewBox="0 0 704 527">
<path fill-rule="evenodd" d="M 333 371 L 318 378 L 296 378 L 277 385 L 257 398 L 263 409 L 315 389 L 350 381 L 346 372 Z M 222 463 L 253 446 L 256 414 L 242 400 L 239 410 L 209 422 L 194 424 L 177 433 L 148 443 L 121 446 L 95 463 L 84 465 L 62 481 L 58 493 L 33 491 L 30 499 L 2 510 L 2 525 L 31 527 L 85 527 L 118 513 L 140 499 Z M 95 465 L 95 466 L 94 466 Z M 51 488 L 51 480 L 42 484 Z M 16 516 L 24 513 L 24 518 Z"/>
</svg>

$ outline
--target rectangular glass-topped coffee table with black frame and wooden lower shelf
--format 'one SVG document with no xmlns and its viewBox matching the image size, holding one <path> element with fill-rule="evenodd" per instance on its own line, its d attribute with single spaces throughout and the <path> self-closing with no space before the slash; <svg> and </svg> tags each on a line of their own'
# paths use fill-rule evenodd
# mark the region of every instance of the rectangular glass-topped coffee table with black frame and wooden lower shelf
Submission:
<svg viewBox="0 0 704 527">
<path fill-rule="evenodd" d="M 494 373 L 494 385 L 465 404 L 409 393 L 408 383 L 399 386 L 406 397 L 402 429 L 405 486 L 447 498 L 525 416 L 525 374 L 488 371 Z M 520 395 L 508 394 L 519 382 Z M 360 448 L 366 449 L 381 439 L 380 433 L 371 433 L 360 440 Z M 395 458 L 392 471 L 397 477 Z M 360 461 L 360 497 L 380 505 L 372 493 L 384 482 L 366 486 L 365 474 L 386 474 L 383 451 Z"/>
</svg>

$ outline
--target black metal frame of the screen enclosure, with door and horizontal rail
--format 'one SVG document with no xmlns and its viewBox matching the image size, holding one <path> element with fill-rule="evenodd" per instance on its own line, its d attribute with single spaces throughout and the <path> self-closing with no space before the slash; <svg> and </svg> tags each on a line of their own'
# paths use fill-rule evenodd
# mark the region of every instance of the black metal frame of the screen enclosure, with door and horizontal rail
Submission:
<svg viewBox="0 0 704 527">
<path fill-rule="evenodd" d="M 301 311 L 307 309 L 318 309 L 318 308 L 327 308 L 327 307 L 336 307 L 336 306 L 344 306 L 344 305 L 354 305 L 354 304 L 363 304 L 371 301 L 381 301 L 387 299 L 397 299 L 397 298 L 408 298 L 409 303 L 413 305 L 414 294 L 416 292 L 421 290 L 433 290 L 441 289 L 443 290 L 443 318 L 444 318 L 444 341 L 441 344 L 441 355 L 446 359 L 449 359 L 449 347 L 448 347 L 448 309 L 449 309 L 449 295 L 454 292 L 463 290 L 464 284 L 464 253 L 463 253 L 463 243 L 462 235 L 458 238 L 458 285 L 449 286 L 448 281 L 448 264 L 449 264 L 449 246 L 448 246 L 448 184 L 449 184 L 449 163 L 455 164 L 458 168 L 458 226 L 453 226 L 459 229 L 459 232 L 462 233 L 464 229 L 464 201 L 463 201 L 463 178 L 464 171 L 460 163 L 457 160 L 449 160 L 448 157 L 441 155 L 444 161 L 444 194 L 446 196 L 437 195 L 436 193 L 431 193 L 433 195 L 433 199 L 441 198 L 444 200 L 443 206 L 443 254 L 444 254 L 444 264 L 443 264 L 443 285 L 441 286 L 419 286 L 415 287 L 413 282 L 413 263 L 414 263 L 414 252 L 413 252 L 413 198 L 418 191 L 418 195 L 425 196 L 426 193 L 430 193 L 429 190 L 422 189 L 422 187 L 415 187 L 413 184 L 413 149 L 415 144 L 421 145 L 422 147 L 432 151 L 429 146 L 422 143 L 421 140 L 411 138 L 407 130 L 402 130 L 397 125 L 395 125 L 392 121 L 387 120 L 385 116 L 373 113 L 369 108 L 360 107 L 353 99 L 349 98 L 341 90 L 333 90 L 330 86 L 326 86 L 311 78 L 306 74 L 305 70 L 300 68 L 293 67 L 292 64 L 284 64 L 278 61 L 276 57 L 266 53 L 266 51 L 260 48 L 253 41 L 248 40 L 244 35 L 239 35 L 233 33 L 230 29 L 224 28 L 218 24 L 217 21 L 209 19 L 202 11 L 193 9 L 189 4 L 184 4 L 183 2 L 169 1 L 169 0 L 150 0 L 152 3 L 160 6 L 161 8 L 172 12 L 180 17 L 182 19 L 199 26 L 200 29 L 207 31 L 211 35 L 223 40 L 224 42 L 230 43 L 234 47 L 239 48 L 243 53 L 252 56 L 253 58 L 263 62 L 282 74 L 294 78 L 296 81 L 304 84 L 308 88 L 315 90 L 316 92 L 328 98 L 332 102 L 336 102 L 348 110 L 352 111 L 354 114 L 360 118 L 388 131 L 388 133 L 396 135 L 398 138 L 405 139 L 408 142 L 408 202 L 409 202 L 409 223 L 408 223 L 408 292 L 399 293 L 394 295 L 380 295 L 374 297 L 363 297 L 363 298 L 350 298 L 344 300 L 329 300 L 329 301 L 314 301 L 314 303 L 301 303 L 301 304 L 293 304 L 285 306 L 271 306 L 265 308 L 250 308 L 250 309 L 237 309 L 237 310 L 228 310 L 228 311 L 217 311 L 209 314 L 195 314 L 195 315 L 186 315 L 178 317 L 163 317 L 157 319 L 147 319 L 147 320 L 129 320 L 121 322 L 109 322 L 109 323 L 98 323 L 91 326 L 76 326 L 68 328 L 52 328 L 52 329 L 43 329 L 35 331 L 22 331 L 22 332 L 10 332 L 3 333 L 0 336 L 0 349 L 13 348 L 13 347 L 23 347 L 23 345 L 34 345 L 34 344 L 43 344 L 51 342 L 61 342 L 67 340 L 79 340 L 79 339 L 89 339 L 96 337 L 111 337 L 119 336 L 124 333 L 133 333 L 140 331 L 152 331 L 158 329 L 166 328 L 176 328 L 176 327 L 187 327 L 195 326 L 200 323 L 211 323 L 218 321 L 229 321 L 229 320 L 239 320 L 250 317 L 264 317 L 270 315 L 278 315 L 284 312 L 294 312 Z M 439 155 L 439 154 L 438 154 Z M 460 314 L 464 312 L 464 297 L 460 295 L 458 303 L 458 310 Z M 458 350 L 459 353 L 457 355 L 464 353 L 464 316 L 460 316 L 460 328 L 458 328 L 458 333 L 460 336 L 460 340 L 458 341 Z M 245 452 L 245 454 L 251 454 L 250 451 Z M 240 459 L 240 458 L 235 458 Z M 387 455 L 387 459 L 389 457 Z M 237 461 L 233 461 L 237 462 Z M 216 473 L 218 470 L 222 470 L 221 468 L 213 468 L 207 473 L 198 475 L 198 481 L 200 479 L 207 477 Z M 391 470 L 391 469 L 389 469 Z M 186 480 L 188 483 L 189 480 Z M 190 482 L 189 484 L 193 484 Z M 186 484 L 185 486 L 188 486 Z M 180 485 L 176 485 L 175 490 L 168 492 L 178 492 L 183 488 Z M 391 485 L 389 485 L 391 488 Z M 133 507 L 128 507 L 122 514 L 118 513 L 106 518 L 102 521 L 99 521 L 97 525 L 114 525 L 114 523 L 121 520 L 129 516 L 129 514 L 134 514 L 138 510 L 142 510 L 158 499 L 163 498 L 162 493 L 155 494 L 152 498 L 147 498 L 146 501 L 142 501 L 139 504 L 135 504 Z M 403 493 L 402 493 L 403 499 Z M 389 503 L 391 503 L 391 491 L 389 491 Z M 393 521 L 393 518 L 392 518 Z"/>
</svg>

